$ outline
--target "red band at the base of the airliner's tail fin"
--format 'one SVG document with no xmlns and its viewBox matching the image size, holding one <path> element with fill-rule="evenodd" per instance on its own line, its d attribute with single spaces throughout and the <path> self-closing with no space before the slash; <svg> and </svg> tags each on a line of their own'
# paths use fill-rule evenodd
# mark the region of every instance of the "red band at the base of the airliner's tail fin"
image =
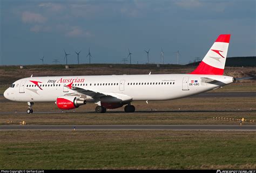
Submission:
<svg viewBox="0 0 256 173">
<path fill-rule="evenodd" d="M 200 62 L 199 66 L 192 71 L 190 74 L 194 75 L 223 75 L 224 69 L 215 68 L 212 66 L 209 66 L 205 62 Z"/>
</svg>

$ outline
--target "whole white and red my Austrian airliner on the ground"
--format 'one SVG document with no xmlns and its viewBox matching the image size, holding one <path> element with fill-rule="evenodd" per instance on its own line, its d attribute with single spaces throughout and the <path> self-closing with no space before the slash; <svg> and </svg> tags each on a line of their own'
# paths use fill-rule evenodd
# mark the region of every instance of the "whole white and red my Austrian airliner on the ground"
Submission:
<svg viewBox="0 0 256 173">
<path fill-rule="evenodd" d="M 183 98 L 235 82 L 234 77 L 223 76 L 229 42 L 230 34 L 219 35 L 190 74 L 31 76 L 14 82 L 4 97 L 28 102 L 27 113 L 33 113 L 35 102 L 55 102 L 62 110 L 96 103 L 98 113 L 126 105 L 125 112 L 134 112 L 133 101 Z"/>
</svg>

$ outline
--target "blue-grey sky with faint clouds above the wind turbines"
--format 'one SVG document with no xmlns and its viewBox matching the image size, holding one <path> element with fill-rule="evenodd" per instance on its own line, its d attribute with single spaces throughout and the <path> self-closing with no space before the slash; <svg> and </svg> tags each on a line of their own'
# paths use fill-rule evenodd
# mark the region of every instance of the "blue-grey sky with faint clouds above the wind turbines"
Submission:
<svg viewBox="0 0 256 173">
<path fill-rule="evenodd" d="M 228 57 L 256 55 L 255 0 L 12 1 L 1 0 L 1 64 L 194 61 L 219 34 L 231 34 Z"/>
</svg>

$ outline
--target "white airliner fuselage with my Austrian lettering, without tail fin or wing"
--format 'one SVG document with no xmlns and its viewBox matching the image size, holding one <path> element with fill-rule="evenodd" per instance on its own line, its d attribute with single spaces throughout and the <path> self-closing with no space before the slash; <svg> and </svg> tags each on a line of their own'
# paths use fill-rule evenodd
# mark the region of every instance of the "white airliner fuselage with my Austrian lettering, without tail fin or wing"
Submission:
<svg viewBox="0 0 256 173">
<path fill-rule="evenodd" d="M 221 82 L 205 82 L 205 78 Z M 79 95 L 66 87 L 72 83 L 72 86 L 85 90 L 120 93 L 130 96 L 132 101 L 170 100 L 232 82 L 230 76 L 191 74 L 28 77 L 14 82 L 15 86 L 7 89 L 4 96 L 16 102 L 55 102 L 59 96 Z"/>
</svg>

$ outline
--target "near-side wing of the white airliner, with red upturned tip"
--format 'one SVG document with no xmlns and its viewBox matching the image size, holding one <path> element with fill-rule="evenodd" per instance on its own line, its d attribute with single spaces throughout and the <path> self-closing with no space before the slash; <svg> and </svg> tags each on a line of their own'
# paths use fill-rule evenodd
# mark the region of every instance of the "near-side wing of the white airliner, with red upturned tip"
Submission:
<svg viewBox="0 0 256 173">
<path fill-rule="evenodd" d="M 67 85 L 66 87 L 68 87 L 73 91 L 77 91 L 83 95 L 90 96 L 93 99 L 102 100 L 105 102 L 129 102 L 132 100 L 130 96 L 123 95 L 122 93 L 102 92 L 102 91 L 98 92 L 98 91 L 86 90 L 76 86 L 70 87 L 69 85 Z"/>
</svg>

